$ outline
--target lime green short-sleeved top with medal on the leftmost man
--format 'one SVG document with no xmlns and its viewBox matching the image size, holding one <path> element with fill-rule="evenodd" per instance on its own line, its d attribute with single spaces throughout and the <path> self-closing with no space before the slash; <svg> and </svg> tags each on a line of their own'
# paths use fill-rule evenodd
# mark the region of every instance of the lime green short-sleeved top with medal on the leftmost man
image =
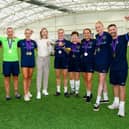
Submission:
<svg viewBox="0 0 129 129">
<path fill-rule="evenodd" d="M 18 61 L 18 44 L 19 39 L 8 39 L 7 37 L 0 37 L 0 42 L 3 48 L 3 61 L 15 62 Z M 9 45 L 11 44 L 11 45 Z"/>
</svg>

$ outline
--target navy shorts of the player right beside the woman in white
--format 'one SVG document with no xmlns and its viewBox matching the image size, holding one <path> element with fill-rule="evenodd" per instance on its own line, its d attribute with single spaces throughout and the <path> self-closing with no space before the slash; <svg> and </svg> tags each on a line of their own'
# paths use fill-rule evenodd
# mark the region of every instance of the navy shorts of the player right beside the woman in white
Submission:
<svg viewBox="0 0 129 129">
<path fill-rule="evenodd" d="M 57 58 L 54 60 L 55 69 L 68 69 L 68 58 Z"/>
</svg>

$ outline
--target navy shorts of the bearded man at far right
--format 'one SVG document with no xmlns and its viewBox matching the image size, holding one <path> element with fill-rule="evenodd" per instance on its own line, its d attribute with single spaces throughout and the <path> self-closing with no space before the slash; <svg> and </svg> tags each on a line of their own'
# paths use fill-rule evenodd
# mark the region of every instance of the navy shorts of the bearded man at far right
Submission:
<svg viewBox="0 0 129 129">
<path fill-rule="evenodd" d="M 112 71 L 110 70 L 110 83 L 112 85 L 120 85 L 125 86 L 127 76 L 128 76 L 128 70 L 124 71 Z"/>
</svg>

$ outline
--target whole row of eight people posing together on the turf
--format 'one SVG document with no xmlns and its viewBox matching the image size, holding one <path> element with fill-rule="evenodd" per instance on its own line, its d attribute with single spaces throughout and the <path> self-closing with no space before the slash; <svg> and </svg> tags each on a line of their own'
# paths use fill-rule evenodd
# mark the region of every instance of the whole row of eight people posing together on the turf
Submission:
<svg viewBox="0 0 129 129">
<path fill-rule="evenodd" d="M 40 39 L 34 41 L 31 39 L 33 31 L 31 29 L 25 30 L 25 39 L 17 40 L 15 46 L 11 46 L 9 39 L 15 40 L 13 35 L 13 28 L 7 29 L 8 38 L 0 38 L 1 46 L 5 50 L 8 48 L 7 55 L 12 54 L 11 48 L 19 47 L 21 49 L 21 67 L 23 73 L 24 85 L 24 100 L 30 101 L 32 94 L 30 93 L 31 78 L 33 68 L 35 66 L 34 50 L 37 49 L 37 99 L 41 99 L 42 93 L 47 96 L 48 93 L 48 77 L 49 77 L 49 63 L 50 50 L 54 46 L 54 68 L 56 73 L 56 93 L 55 96 L 61 94 L 61 77 L 63 76 L 64 96 L 70 95 L 79 96 L 80 89 L 80 73 L 83 73 L 83 78 L 86 86 L 86 95 L 84 99 L 90 102 L 92 99 L 92 78 L 94 71 L 98 72 L 98 91 L 97 98 L 93 110 L 99 111 L 100 103 L 108 103 L 108 91 L 106 83 L 106 75 L 110 68 L 110 82 L 114 86 L 114 101 L 109 105 L 109 109 L 119 109 L 118 115 L 125 116 L 125 83 L 127 79 L 128 65 L 126 59 L 127 42 L 129 35 L 118 36 L 117 26 L 111 24 L 108 26 L 108 32 L 104 31 L 104 26 L 101 21 L 96 22 L 95 28 L 97 31 L 96 38 L 92 38 L 91 29 L 85 28 L 83 30 L 84 38 L 80 40 L 79 33 L 73 31 L 71 33 L 71 41 L 64 38 L 64 30 L 58 30 L 58 40 L 55 43 L 48 38 L 48 30 L 42 28 L 40 31 Z M 12 33 L 11 37 L 9 36 Z M 6 45 L 6 47 L 4 47 Z M 13 44 L 14 45 L 14 44 Z M 11 47 L 10 47 L 11 46 Z M 10 52 L 11 51 L 11 52 Z M 13 53 L 16 53 L 14 51 Z M 14 54 L 12 54 L 13 56 Z M 10 100 L 9 81 L 10 75 L 18 76 L 19 71 L 15 74 L 15 65 L 9 63 L 14 61 L 3 61 L 7 70 L 3 67 L 5 76 L 6 99 Z M 117 69 L 118 68 L 118 69 Z M 5 74 L 5 71 L 9 74 Z M 70 83 L 70 93 L 68 92 L 68 76 Z M 8 77 L 8 80 L 7 80 Z M 42 88 L 43 78 L 43 88 Z M 20 98 L 18 93 L 18 84 L 16 87 L 16 98 Z M 103 95 L 103 97 L 102 97 Z"/>
</svg>

